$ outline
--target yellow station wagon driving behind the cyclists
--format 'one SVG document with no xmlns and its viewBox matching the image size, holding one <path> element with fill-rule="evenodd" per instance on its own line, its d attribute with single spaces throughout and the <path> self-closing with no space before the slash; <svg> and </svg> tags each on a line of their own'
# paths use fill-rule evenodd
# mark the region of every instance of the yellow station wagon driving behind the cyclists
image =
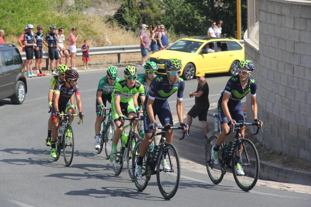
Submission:
<svg viewBox="0 0 311 207">
<path fill-rule="evenodd" d="M 159 65 L 158 73 L 165 74 L 164 62 L 169 58 L 181 61 L 185 80 L 193 79 L 196 71 L 236 75 L 239 61 L 244 60 L 244 46 L 233 38 L 188 37 L 151 54 L 149 60 Z"/>
</svg>

